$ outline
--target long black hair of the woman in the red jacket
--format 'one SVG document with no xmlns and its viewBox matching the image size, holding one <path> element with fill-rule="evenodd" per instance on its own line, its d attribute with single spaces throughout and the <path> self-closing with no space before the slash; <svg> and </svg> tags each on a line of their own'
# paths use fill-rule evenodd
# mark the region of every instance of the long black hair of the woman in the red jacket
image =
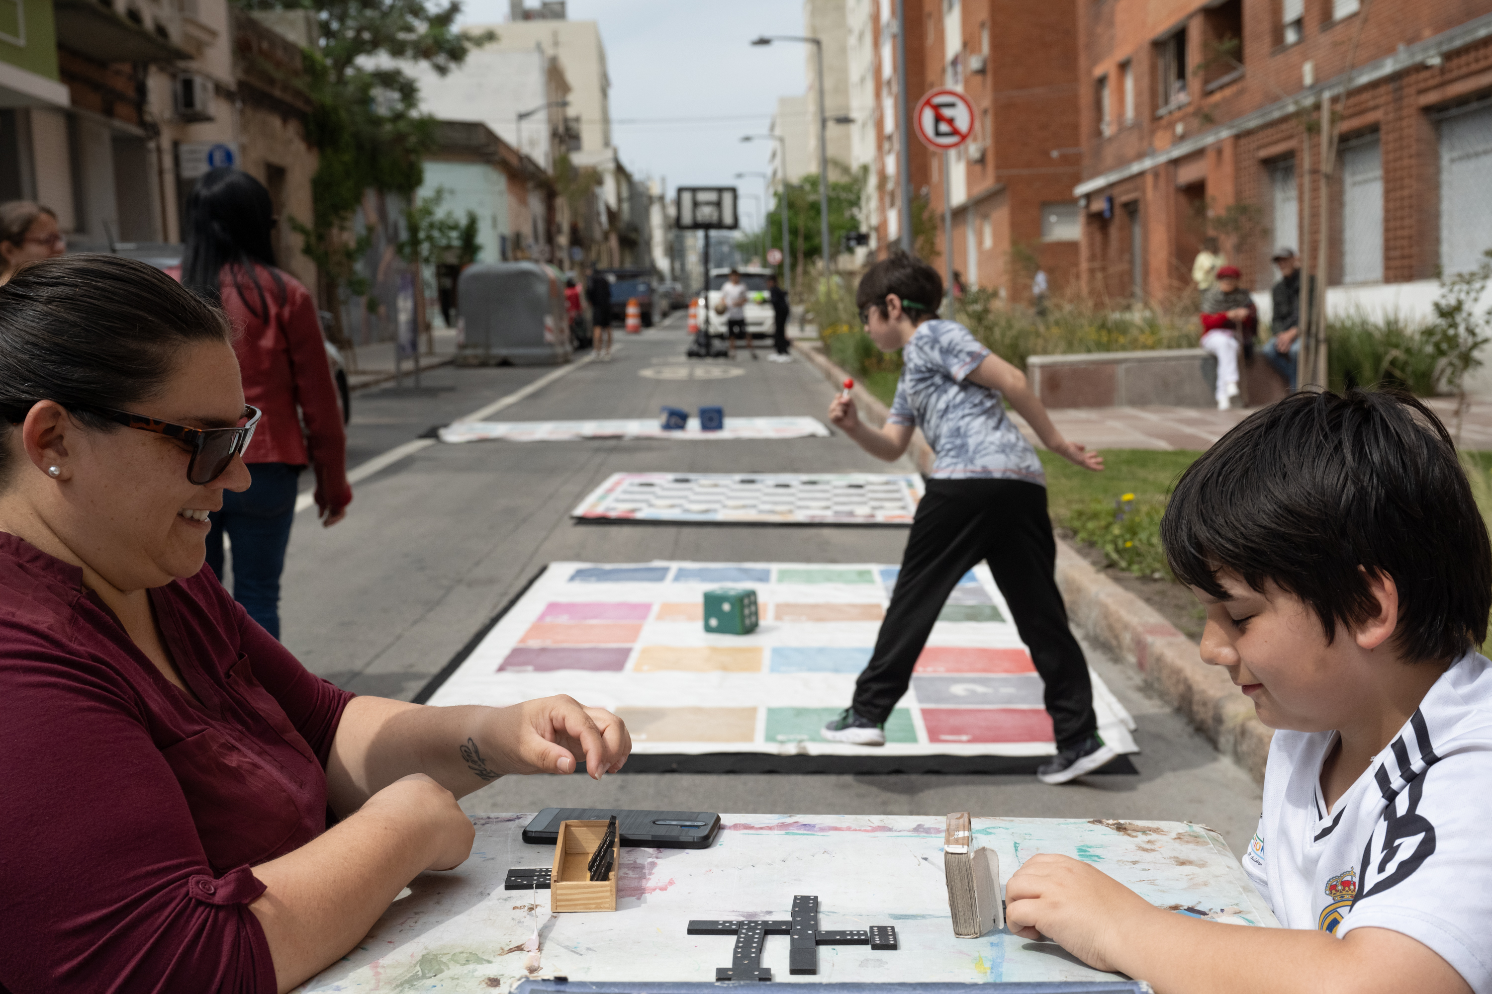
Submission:
<svg viewBox="0 0 1492 994">
<path fill-rule="evenodd" d="M 260 280 L 260 267 L 269 270 L 285 303 L 285 280 L 275 268 L 275 204 L 264 183 L 236 168 L 215 168 L 203 174 L 186 197 L 182 252 L 182 283 L 209 304 L 222 306 L 222 267 L 233 267 L 233 282 L 245 306 L 260 320 L 269 320 L 269 300 Z M 254 301 L 245 292 L 245 279 L 254 288 Z"/>
</svg>

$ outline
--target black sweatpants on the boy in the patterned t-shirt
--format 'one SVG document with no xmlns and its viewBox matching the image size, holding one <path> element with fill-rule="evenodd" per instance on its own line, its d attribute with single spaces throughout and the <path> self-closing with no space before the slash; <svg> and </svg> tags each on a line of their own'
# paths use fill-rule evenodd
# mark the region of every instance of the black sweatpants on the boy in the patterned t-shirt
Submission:
<svg viewBox="0 0 1492 994">
<path fill-rule="evenodd" d="M 871 721 L 891 717 L 943 604 L 980 559 L 1046 684 L 1056 748 L 1071 748 L 1098 730 L 1094 687 L 1056 589 L 1046 487 L 1022 480 L 928 480 L 876 651 L 855 681 L 855 712 Z"/>
</svg>

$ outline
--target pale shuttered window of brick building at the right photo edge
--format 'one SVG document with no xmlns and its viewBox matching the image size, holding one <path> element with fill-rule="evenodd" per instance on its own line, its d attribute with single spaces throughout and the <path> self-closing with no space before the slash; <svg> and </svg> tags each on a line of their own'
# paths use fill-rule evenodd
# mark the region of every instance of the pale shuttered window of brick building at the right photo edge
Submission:
<svg viewBox="0 0 1492 994">
<path fill-rule="evenodd" d="M 1440 121 L 1440 265 L 1465 273 L 1482 262 L 1492 229 L 1492 107 L 1461 109 Z"/>
</svg>

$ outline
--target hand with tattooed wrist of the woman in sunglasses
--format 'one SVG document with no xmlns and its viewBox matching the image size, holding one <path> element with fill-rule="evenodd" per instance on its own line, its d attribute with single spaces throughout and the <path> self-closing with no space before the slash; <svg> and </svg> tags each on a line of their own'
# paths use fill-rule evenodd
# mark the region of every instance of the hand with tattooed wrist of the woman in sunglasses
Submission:
<svg viewBox="0 0 1492 994">
<path fill-rule="evenodd" d="M 573 773 L 580 757 L 591 779 L 601 779 L 633 751 L 621 718 L 565 694 L 500 708 L 483 724 L 482 741 L 495 750 L 498 773 Z"/>
</svg>

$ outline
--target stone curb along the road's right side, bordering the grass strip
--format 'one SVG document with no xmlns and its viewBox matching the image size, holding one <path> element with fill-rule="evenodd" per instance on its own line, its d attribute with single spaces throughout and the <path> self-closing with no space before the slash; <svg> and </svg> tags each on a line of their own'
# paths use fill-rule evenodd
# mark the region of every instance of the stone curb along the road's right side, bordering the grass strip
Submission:
<svg viewBox="0 0 1492 994">
<path fill-rule="evenodd" d="M 821 344 L 794 343 L 792 347 L 836 387 L 849 376 L 824 355 Z M 868 420 L 886 420 L 886 405 L 864 386 L 856 383 L 850 396 Z M 932 450 L 921 431 L 912 438 L 912 456 L 924 472 L 931 468 Z M 1195 642 L 1159 611 L 1094 569 L 1061 538 L 1056 539 L 1056 586 L 1068 615 L 1088 636 L 1144 674 L 1146 684 L 1191 718 L 1219 753 L 1264 782 L 1264 762 L 1274 732 L 1255 717 L 1253 705 L 1232 686 L 1225 669 L 1204 663 Z"/>
</svg>

